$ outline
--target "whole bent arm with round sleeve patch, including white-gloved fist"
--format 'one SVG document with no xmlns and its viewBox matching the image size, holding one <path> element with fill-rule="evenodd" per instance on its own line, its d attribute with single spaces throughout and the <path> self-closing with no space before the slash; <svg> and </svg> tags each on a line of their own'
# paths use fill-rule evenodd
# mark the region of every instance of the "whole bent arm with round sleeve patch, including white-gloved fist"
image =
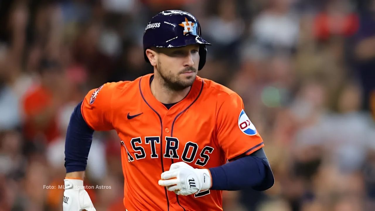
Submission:
<svg viewBox="0 0 375 211">
<path fill-rule="evenodd" d="M 178 162 L 162 173 L 159 185 L 177 194 L 188 195 L 213 190 L 267 190 L 274 183 L 263 140 L 243 111 L 236 94 L 218 108 L 217 139 L 229 163 L 210 169 L 194 169 Z M 193 181 L 195 186 L 190 186 Z M 197 181 L 197 182 L 196 182 Z"/>
</svg>

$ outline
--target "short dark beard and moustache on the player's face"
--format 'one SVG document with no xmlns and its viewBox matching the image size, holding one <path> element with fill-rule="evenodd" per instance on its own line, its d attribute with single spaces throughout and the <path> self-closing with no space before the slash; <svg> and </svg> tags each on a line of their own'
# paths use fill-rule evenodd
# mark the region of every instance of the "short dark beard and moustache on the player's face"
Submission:
<svg viewBox="0 0 375 211">
<path fill-rule="evenodd" d="M 191 81 L 183 81 L 183 80 L 180 80 L 178 77 L 174 78 L 174 76 L 171 74 L 170 71 L 168 74 L 166 70 L 162 68 L 161 63 L 159 61 L 157 61 L 156 70 L 159 73 L 159 75 L 163 78 L 164 86 L 168 88 L 169 90 L 174 90 L 174 91 L 184 90 L 187 87 L 192 86 L 195 81 L 195 77 Z M 190 67 L 183 69 L 181 72 L 178 72 L 178 75 L 183 72 L 188 72 L 188 71 L 196 72 L 196 69 L 190 66 Z"/>
</svg>

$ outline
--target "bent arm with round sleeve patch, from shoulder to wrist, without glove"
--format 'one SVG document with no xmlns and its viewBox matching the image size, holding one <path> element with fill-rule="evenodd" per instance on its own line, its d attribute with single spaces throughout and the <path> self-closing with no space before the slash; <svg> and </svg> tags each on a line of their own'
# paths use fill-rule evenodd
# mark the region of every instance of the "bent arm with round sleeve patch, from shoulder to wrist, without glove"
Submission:
<svg viewBox="0 0 375 211">
<path fill-rule="evenodd" d="M 274 183 L 264 142 L 244 111 L 241 97 L 232 93 L 218 108 L 217 140 L 229 163 L 210 168 L 213 190 L 267 190 Z"/>
</svg>

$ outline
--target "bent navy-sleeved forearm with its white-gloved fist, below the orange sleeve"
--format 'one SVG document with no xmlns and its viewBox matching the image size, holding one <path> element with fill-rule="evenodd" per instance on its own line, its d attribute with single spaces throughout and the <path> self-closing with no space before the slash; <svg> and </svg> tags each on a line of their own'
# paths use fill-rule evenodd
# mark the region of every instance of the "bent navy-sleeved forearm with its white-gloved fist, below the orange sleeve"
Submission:
<svg viewBox="0 0 375 211">
<path fill-rule="evenodd" d="M 195 184 L 192 184 L 193 181 Z M 194 169 L 184 162 L 163 172 L 159 185 L 176 194 L 196 194 L 204 190 L 267 190 L 275 180 L 263 148 L 251 155 L 210 169 Z"/>
</svg>

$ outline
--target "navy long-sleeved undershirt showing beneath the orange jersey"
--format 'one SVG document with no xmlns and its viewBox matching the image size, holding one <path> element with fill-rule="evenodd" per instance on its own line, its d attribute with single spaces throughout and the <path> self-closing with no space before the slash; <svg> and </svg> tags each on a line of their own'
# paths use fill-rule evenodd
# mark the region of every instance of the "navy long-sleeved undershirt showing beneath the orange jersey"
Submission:
<svg viewBox="0 0 375 211">
<path fill-rule="evenodd" d="M 151 77 L 153 78 L 153 77 Z M 150 79 L 150 83 L 151 83 Z M 93 130 L 86 124 L 81 113 L 80 102 L 75 107 L 66 132 L 65 168 L 66 173 L 84 171 L 92 143 Z M 170 109 L 175 103 L 164 104 Z M 263 148 L 226 163 L 210 168 L 212 190 L 267 190 L 274 181 L 271 168 Z"/>
</svg>

